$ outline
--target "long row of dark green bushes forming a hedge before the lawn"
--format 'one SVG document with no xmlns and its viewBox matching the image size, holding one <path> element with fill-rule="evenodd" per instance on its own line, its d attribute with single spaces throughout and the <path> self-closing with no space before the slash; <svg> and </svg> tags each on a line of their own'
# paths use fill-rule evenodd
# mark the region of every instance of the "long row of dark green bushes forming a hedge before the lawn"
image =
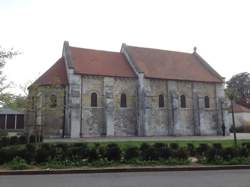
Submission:
<svg viewBox="0 0 250 187">
<path fill-rule="evenodd" d="M 12 140 L 13 141 L 13 140 Z M 116 143 L 87 144 L 87 143 L 41 143 L 12 145 L 0 148 L 0 164 L 10 162 L 16 157 L 27 163 L 85 162 L 157 162 L 170 160 L 185 161 L 195 156 L 203 163 L 216 163 L 230 161 L 235 158 L 250 158 L 250 144 L 244 143 L 239 147 L 223 148 L 220 144 L 200 144 L 195 147 L 188 144 L 179 147 L 175 144 L 143 143 L 141 146 L 128 146 L 121 148 Z M 238 159 L 239 160 L 239 159 Z M 250 159 L 249 159 L 250 164 Z"/>
</svg>

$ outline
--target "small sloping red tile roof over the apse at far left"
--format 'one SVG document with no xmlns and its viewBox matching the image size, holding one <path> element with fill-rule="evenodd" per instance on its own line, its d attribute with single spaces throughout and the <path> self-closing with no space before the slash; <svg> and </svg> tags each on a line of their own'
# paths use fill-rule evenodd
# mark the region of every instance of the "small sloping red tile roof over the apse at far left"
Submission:
<svg viewBox="0 0 250 187">
<path fill-rule="evenodd" d="M 67 73 L 64 64 L 64 59 L 61 57 L 57 60 L 57 62 L 50 67 L 43 75 L 41 75 L 34 83 L 37 85 L 50 85 L 59 83 L 61 85 L 66 85 L 67 80 Z"/>
</svg>

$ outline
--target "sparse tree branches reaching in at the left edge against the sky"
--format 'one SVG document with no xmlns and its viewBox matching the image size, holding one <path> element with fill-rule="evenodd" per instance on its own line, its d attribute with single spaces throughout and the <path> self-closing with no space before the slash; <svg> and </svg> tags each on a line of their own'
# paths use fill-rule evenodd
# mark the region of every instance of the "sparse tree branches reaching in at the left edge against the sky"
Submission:
<svg viewBox="0 0 250 187">
<path fill-rule="evenodd" d="M 5 103 L 6 100 L 10 99 L 11 94 L 6 93 L 6 88 L 9 88 L 10 84 L 6 84 L 6 77 L 3 75 L 2 68 L 6 64 L 7 59 L 11 59 L 13 56 L 18 55 L 18 51 L 5 50 L 0 46 L 0 104 Z"/>
</svg>

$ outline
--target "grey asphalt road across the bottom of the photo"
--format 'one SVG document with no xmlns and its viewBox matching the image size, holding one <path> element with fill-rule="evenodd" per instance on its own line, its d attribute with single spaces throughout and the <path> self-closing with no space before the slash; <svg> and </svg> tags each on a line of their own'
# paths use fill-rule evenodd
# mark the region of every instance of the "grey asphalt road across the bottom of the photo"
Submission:
<svg viewBox="0 0 250 187">
<path fill-rule="evenodd" d="M 250 170 L 0 176 L 0 187 L 249 187 Z"/>
</svg>

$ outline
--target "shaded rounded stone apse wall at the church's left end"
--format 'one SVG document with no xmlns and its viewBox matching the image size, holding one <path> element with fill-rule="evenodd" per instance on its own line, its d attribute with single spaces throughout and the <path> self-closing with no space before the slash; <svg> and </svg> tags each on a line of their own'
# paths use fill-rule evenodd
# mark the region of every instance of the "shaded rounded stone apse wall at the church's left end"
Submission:
<svg viewBox="0 0 250 187">
<path fill-rule="evenodd" d="M 28 134 L 43 134 L 44 137 L 62 137 L 64 131 L 63 87 L 40 86 L 30 89 L 26 117 Z M 51 96 L 56 96 L 56 106 L 51 106 Z M 33 99 L 32 101 L 32 98 Z"/>
</svg>

